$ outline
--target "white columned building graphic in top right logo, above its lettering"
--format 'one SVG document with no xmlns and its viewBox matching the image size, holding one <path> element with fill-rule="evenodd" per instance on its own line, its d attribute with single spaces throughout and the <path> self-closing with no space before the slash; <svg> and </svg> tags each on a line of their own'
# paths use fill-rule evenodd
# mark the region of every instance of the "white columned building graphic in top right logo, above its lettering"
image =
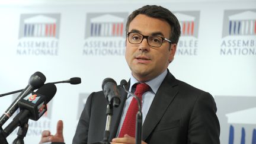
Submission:
<svg viewBox="0 0 256 144">
<path fill-rule="evenodd" d="M 256 35 L 256 12 L 245 11 L 228 18 L 229 35 Z"/>
</svg>

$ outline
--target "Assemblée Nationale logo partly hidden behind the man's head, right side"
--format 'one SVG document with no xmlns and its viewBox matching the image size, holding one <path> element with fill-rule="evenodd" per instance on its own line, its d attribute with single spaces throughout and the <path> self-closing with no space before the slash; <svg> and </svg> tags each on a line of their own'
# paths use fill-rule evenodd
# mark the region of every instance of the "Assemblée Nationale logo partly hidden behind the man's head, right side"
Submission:
<svg viewBox="0 0 256 144">
<path fill-rule="evenodd" d="M 200 11 L 178 11 L 174 12 L 174 14 L 181 25 L 181 37 L 178 41 L 177 55 L 197 55 Z"/>
</svg>

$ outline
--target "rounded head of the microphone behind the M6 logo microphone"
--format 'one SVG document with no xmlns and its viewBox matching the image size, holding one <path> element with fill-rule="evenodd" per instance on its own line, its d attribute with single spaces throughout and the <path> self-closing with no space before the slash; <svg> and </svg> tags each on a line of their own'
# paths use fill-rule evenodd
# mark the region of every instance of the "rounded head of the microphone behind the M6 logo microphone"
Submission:
<svg viewBox="0 0 256 144">
<path fill-rule="evenodd" d="M 46 81 L 46 77 L 41 72 L 35 72 L 33 75 L 30 76 L 28 80 L 28 85 L 33 87 L 33 89 L 40 88 L 44 82 Z"/>
</svg>

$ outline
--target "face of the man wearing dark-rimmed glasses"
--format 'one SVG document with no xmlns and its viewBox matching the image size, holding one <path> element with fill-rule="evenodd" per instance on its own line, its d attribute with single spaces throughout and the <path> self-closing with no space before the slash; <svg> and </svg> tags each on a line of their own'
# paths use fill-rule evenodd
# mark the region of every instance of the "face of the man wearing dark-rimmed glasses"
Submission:
<svg viewBox="0 0 256 144">
<path fill-rule="evenodd" d="M 129 32 L 131 31 L 145 36 L 156 34 L 169 39 L 171 27 L 166 21 L 139 14 L 129 25 Z M 140 44 L 132 44 L 127 38 L 126 62 L 138 81 L 149 81 L 167 69 L 169 62 L 174 58 L 176 47 L 177 44 L 171 44 L 166 40 L 161 47 L 151 47 L 147 39 L 143 39 Z"/>
</svg>

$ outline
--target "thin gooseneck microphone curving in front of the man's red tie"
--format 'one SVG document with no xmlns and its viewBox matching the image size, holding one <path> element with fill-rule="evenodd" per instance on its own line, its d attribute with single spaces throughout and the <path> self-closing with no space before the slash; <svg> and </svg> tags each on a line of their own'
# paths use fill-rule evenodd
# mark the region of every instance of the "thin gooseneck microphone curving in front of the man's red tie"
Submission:
<svg viewBox="0 0 256 144">
<path fill-rule="evenodd" d="M 138 104 L 138 111 L 136 114 L 136 134 L 135 134 L 135 139 L 136 139 L 136 144 L 140 144 L 141 140 L 142 140 L 142 108 L 141 108 L 141 101 L 139 100 L 139 98 L 133 94 L 130 91 L 126 90 L 126 85 L 127 85 L 127 81 L 126 80 L 121 80 L 120 85 L 123 87 L 124 91 L 126 91 L 128 94 L 132 95 L 134 98 L 136 98 L 137 100 L 137 104 Z"/>
</svg>

